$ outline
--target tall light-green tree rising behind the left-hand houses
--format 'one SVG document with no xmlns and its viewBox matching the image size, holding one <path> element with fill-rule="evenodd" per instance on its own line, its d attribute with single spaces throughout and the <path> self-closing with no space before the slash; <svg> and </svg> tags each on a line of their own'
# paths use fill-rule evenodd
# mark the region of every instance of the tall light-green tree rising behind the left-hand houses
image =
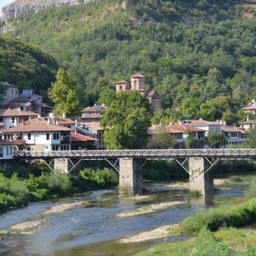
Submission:
<svg viewBox="0 0 256 256">
<path fill-rule="evenodd" d="M 80 90 L 78 81 L 62 68 L 59 69 L 56 82 L 48 89 L 48 97 L 55 103 L 54 112 L 67 113 L 67 116 L 80 115 Z"/>
</svg>

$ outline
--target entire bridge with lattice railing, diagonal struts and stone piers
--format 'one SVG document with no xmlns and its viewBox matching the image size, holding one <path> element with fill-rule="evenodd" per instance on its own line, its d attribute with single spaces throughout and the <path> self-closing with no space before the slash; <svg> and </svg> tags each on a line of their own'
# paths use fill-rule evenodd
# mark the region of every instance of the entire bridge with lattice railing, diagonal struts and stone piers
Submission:
<svg viewBox="0 0 256 256">
<path fill-rule="evenodd" d="M 105 160 L 120 173 L 120 191 L 143 192 L 142 171 L 149 160 L 175 160 L 189 175 L 190 189 L 213 194 L 213 172 L 224 160 L 251 159 L 256 163 L 256 149 L 138 149 L 89 151 L 16 151 L 16 160 L 46 160 L 52 170 L 72 172 L 81 161 Z M 51 166 L 54 163 L 54 168 Z"/>
</svg>

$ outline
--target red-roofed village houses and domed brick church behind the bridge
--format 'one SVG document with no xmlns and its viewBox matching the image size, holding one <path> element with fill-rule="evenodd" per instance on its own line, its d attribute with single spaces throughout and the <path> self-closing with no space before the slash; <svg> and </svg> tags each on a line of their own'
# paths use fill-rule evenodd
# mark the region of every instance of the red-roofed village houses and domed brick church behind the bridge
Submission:
<svg viewBox="0 0 256 256">
<path fill-rule="evenodd" d="M 8 82 L 1 82 L 6 88 L 4 101 L 0 110 L 1 147 L 0 157 L 10 159 L 18 151 L 67 151 L 106 149 L 104 131 L 101 127 L 102 111 L 107 109 L 104 104 L 84 108 L 78 120 L 66 117 L 65 112 L 55 115 L 53 107 L 44 103 L 43 97 L 33 94 L 32 90 L 24 90 L 19 94 L 18 88 Z M 161 98 L 155 91 L 145 90 L 145 77 L 136 73 L 129 82 L 116 82 L 116 92 L 139 91 L 148 99 L 153 112 L 161 107 Z M 254 113 L 256 103 L 252 100 L 241 110 Z M 229 126 L 221 120 L 209 122 L 198 120 L 183 120 L 169 123 L 165 128 L 176 140 L 176 148 L 186 148 L 187 131 L 192 132 L 196 140 L 195 148 L 208 148 L 208 133 L 224 133 L 226 144 L 223 147 L 239 145 L 246 139 L 246 133 L 254 127 L 256 120 L 247 120 L 240 127 Z M 157 133 L 162 123 L 152 124 L 148 128 L 148 138 Z"/>
</svg>

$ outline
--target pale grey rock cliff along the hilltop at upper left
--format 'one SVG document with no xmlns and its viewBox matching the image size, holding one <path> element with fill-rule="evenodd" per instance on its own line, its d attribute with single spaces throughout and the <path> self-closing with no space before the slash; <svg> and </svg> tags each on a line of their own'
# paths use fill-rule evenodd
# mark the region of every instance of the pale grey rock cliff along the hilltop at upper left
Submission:
<svg viewBox="0 0 256 256">
<path fill-rule="evenodd" d="M 18 16 L 30 10 L 36 12 L 49 6 L 60 7 L 61 5 L 80 5 L 93 0 L 17 0 L 2 8 L 2 20 L 7 23 L 11 16 Z"/>
</svg>

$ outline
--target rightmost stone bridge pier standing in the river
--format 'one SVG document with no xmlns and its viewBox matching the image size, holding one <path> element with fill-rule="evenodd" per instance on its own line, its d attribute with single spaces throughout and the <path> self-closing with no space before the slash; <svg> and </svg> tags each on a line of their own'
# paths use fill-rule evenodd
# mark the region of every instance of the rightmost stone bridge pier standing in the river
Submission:
<svg viewBox="0 0 256 256">
<path fill-rule="evenodd" d="M 204 157 L 189 158 L 189 186 L 190 190 L 197 190 L 201 195 L 214 194 L 213 175 L 205 171 L 210 164 Z"/>
</svg>

